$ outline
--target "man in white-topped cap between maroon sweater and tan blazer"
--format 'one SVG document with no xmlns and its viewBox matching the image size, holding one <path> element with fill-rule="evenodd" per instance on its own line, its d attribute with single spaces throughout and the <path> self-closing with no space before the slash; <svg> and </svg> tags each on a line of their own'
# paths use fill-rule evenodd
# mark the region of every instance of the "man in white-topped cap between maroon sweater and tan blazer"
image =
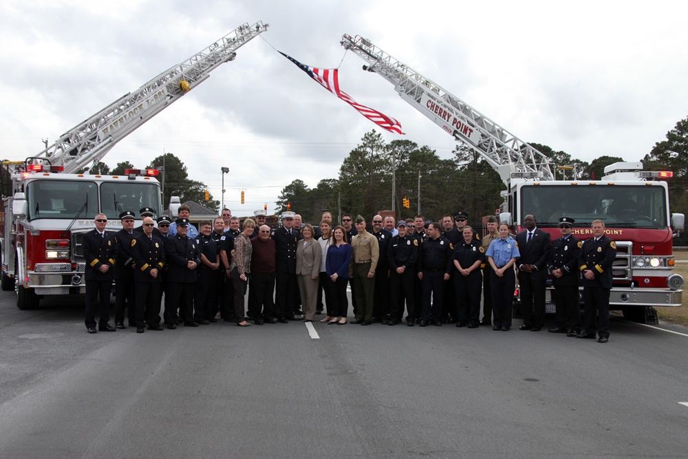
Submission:
<svg viewBox="0 0 688 459">
<path fill-rule="evenodd" d="M 297 240 L 299 233 L 292 230 L 294 213 L 291 211 L 282 213 L 282 226 L 272 231 L 270 237 L 275 241 L 275 310 L 277 321 L 286 323 L 288 320 L 296 320 L 294 308 L 296 308 L 297 289 Z"/>
</svg>

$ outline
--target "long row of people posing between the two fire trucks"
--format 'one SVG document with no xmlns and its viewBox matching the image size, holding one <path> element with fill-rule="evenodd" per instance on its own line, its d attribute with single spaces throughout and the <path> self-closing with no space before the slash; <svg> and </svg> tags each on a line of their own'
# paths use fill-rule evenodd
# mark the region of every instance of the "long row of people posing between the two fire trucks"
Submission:
<svg viewBox="0 0 688 459">
<path fill-rule="evenodd" d="M 488 234 L 481 238 L 467 226 L 466 213 L 444 215 L 441 222 L 422 215 L 398 222 L 374 215 L 372 232 L 361 215 L 354 219 L 345 214 L 338 225 L 324 212 L 319 225 L 312 226 L 288 211 L 281 215 L 281 226 L 271 229 L 265 211 L 254 214 L 242 226 L 223 209 L 197 229 L 189 222 L 187 206 L 180 207 L 175 222 L 168 217 L 155 221 L 152 209 L 144 208 L 142 226 L 134 228 L 133 212 L 125 211 L 116 233 L 105 231 L 105 215 L 96 215 L 96 228 L 83 236 L 82 244 L 87 331 L 126 328 L 125 310 L 128 325 L 140 333 L 163 330 L 163 325 L 171 330 L 182 323 L 208 325 L 218 320 L 218 313 L 224 321 L 247 327 L 249 321 L 311 322 L 325 310 L 321 322 L 344 325 L 347 285 L 354 313 L 348 323 L 397 325 L 405 320 L 409 326 L 455 323 L 508 331 L 516 278 L 524 319 L 519 329 L 539 331 L 551 275 L 557 326 L 548 331 L 578 338 L 599 333 L 599 342 L 608 341 L 616 246 L 604 235 L 601 221 L 593 222 L 594 237 L 583 243 L 571 234 L 574 222 L 568 217 L 560 219 L 561 238 L 551 242 L 533 215 L 526 216 L 526 230 L 513 239 L 509 227 L 498 225 L 495 217 L 488 218 Z M 114 327 L 107 310 L 113 280 Z M 579 284 L 584 288 L 582 320 Z"/>
</svg>

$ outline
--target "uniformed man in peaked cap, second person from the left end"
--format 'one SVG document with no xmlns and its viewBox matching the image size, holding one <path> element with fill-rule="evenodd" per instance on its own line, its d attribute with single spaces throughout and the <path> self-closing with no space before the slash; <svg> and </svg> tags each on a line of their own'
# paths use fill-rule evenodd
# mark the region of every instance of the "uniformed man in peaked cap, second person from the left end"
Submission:
<svg viewBox="0 0 688 459">
<path fill-rule="evenodd" d="M 122 229 L 115 233 L 118 244 L 118 258 L 115 265 L 115 327 L 125 327 L 125 308 L 129 326 L 136 325 L 136 291 L 133 285 L 133 270 L 136 268 L 131 257 L 131 241 L 133 240 L 134 214 L 131 211 L 120 213 Z"/>
</svg>

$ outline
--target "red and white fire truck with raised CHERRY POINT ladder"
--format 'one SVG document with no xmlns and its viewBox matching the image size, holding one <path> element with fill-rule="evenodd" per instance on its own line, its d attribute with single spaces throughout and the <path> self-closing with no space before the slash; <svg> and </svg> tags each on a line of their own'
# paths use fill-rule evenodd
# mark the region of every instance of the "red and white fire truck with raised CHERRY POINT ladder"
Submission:
<svg viewBox="0 0 688 459">
<path fill-rule="evenodd" d="M 363 70 L 379 74 L 407 103 L 490 164 L 502 179 L 499 219 L 522 231 L 524 217 L 559 237 L 559 217 L 575 220 L 574 235 L 592 237 L 593 220 L 605 222 L 616 241 L 610 308 L 624 317 L 656 323 L 654 306 L 681 306 L 683 278 L 674 273 L 673 237 L 685 217 L 669 213 L 664 178 L 671 172 L 643 171 L 641 162 L 605 168 L 600 180 L 555 180 L 550 160 L 479 111 L 361 37 L 343 35 L 341 45 L 363 58 Z M 554 312 L 551 287 L 548 312 Z"/>
</svg>

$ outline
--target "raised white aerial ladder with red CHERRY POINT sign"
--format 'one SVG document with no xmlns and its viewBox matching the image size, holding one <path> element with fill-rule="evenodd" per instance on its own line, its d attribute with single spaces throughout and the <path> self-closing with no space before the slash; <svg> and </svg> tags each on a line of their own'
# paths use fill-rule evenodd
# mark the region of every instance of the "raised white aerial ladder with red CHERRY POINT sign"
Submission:
<svg viewBox="0 0 688 459">
<path fill-rule="evenodd" d="M 344 34 L 341 45 L 367 61 L 363 70 L 385 78 L 394 85 L 403 100 L 442 127 L 455 140 L 480 154 L 499 173 L 507 187 L 510 178 L 515 175 L 554 180 L 550 160 L 544 154 L 437 83 L 397 61 L 362 36 Z"/>
</svg>

